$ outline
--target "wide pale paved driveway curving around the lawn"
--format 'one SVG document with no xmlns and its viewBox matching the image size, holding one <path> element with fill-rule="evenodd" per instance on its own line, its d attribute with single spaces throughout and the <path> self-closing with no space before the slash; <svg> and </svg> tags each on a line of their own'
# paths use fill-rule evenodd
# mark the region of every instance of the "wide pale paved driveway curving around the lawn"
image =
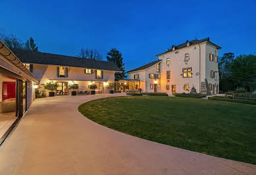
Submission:
<svg viewBox="0 0 256 175">
<path fill-rule="evenodd" d="M 256 174 L 253 164 L 128 136 L 77 110 L 109 96 L 37 99 L 0 152 L 0 174 Z"/>
</svg>

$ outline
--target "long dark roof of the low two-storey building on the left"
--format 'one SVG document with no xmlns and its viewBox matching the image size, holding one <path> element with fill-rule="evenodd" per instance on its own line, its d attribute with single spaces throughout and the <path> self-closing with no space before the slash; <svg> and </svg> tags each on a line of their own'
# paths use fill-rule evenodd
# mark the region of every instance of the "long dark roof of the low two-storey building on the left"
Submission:
<svg viewBox="0 0 256 175">
<path fill-rule="evenodd" d="M 109 61 L 97 61 L 92 59 L 82 59 L 79 57 L 56 55 L 51 53 L 23 51 L 21 49 L 13 49 L 13 53 L 15 53 L 16 57 L 18 57 L 18 59 L 20 59 L 22 63 L 50 64 L 59 66 L 73 66 L 81 68 L 121 71 L 116 64 Z"/>
</svg>

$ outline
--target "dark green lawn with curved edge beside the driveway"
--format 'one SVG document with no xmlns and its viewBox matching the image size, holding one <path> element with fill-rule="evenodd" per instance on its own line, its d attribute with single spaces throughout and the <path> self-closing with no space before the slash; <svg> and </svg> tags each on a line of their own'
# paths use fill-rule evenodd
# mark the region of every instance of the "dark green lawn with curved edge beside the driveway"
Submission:
<svg viewBox="0 0 256 175">
<path fill-rule="evenodd" d="M 80 105 L 94 122 L 132 136 L 256 164 L 256 107 L 185 97 L 112 97 Z"/>
</svg>

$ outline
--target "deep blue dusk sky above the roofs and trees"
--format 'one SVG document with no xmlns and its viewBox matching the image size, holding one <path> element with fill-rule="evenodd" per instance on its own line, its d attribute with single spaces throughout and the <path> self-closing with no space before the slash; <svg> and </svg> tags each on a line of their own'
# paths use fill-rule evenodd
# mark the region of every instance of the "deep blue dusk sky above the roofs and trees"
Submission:
<svg viewBox="0 0 256 175">
<path fill-rule="evenodd" d="M 131 70 L 173 44 L 210 37 L 223 53 L 256 52 L 256 1 L 1 0 L 0 28 L 39 51 L 77 56 L 81 47 L 104 59 L 116 47 Z"/>
</svg>

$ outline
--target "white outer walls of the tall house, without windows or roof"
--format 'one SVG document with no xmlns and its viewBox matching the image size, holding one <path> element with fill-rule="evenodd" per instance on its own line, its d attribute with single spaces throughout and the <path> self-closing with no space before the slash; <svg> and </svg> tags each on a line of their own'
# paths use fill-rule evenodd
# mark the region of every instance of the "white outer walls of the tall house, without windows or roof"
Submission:
<svg viewBox="0 0 256 175">
<path fill-rule="evenodd" d="M 185 53 L 189 53 L 188 62 L 184 61 Z M 204 42 L 200 43 L 200 45 L 191 45 L 189 47 L 160 55 L 158 59 L 162 60 L 160 63 L 161 79 L 157 80 L 156 84 L 161 84 L 161 89 L 158 89 L 157 91 L 172 93 L 172 85 L 176 85 L 176 93 L 189 93 L 193 86 L 195 86 L 197 93 L 199 93 L 201 82 L 205 82 L 205 78 L 207 78 L 209 84 L 218 85 L 218 73 L 215 74 L 216 78 L 210 78 L 211 70 L 218 71 L 218 63 L 209 61 L 209 53 L 218 55 L 218 49 L 213 45 L 210 45 L 210 43 Z M 169 66 L 166 64 L 166 59 L 168 58 L 170 59 Z M 192 68 L 191 78 L 183 78 L 183 68 Z M 171 75 L 169 82 L 166 78 L 166 71 L 168 70 L 170 70 Z M 137 73 L 138 72 L 129 73 L 129 78 L 133 79 L 133 75 Z M 147 82 L 148 92 L 153 92 L 154 89 L 150 89 L 150 84 L 155 84 L 155 79 L 148 78 L 148 74 L 150 73 L 157 74 L 156 64 L 146 70 L 139 71 L 140 79 L 141 74 L 144 74 L 143 80 Z M 184 89 L 185 84 L 189 85 L 189 90 Z M 170 86 L 170 90 L 166 89 L 166 85 Z"/>
</svg>

